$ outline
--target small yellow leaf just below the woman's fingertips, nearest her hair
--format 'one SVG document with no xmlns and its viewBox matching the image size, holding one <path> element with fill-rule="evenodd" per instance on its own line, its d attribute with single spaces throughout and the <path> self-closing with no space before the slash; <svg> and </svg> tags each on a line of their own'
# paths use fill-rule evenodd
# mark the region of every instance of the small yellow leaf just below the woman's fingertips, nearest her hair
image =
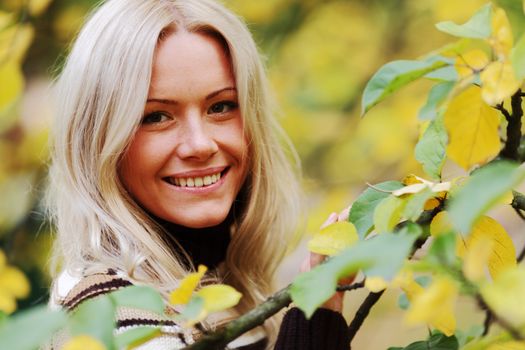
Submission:
<svg viewBox="0 0 525 350">
<path fill-rule="evenodd" d="M 308 250 L 321 255 L 336 255 L 353 245 L 359 236 L 348 221 L 338 221 L 323 228 L 308 242 Z"/>
</svg>

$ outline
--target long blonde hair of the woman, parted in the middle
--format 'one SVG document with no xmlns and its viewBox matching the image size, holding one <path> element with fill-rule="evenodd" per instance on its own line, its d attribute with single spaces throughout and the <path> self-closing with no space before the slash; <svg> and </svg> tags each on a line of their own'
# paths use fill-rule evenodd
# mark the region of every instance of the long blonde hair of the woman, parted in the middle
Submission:
<svg viewBox="0 0 525 350">
<path fill-rule="evenodd" d="M 168 28 L 216 35 L 231 57 L 250 172 L 222 277 L 243 294 L 237 309 L 245 312 L 271 293 L 275 269 L 297 229 L 299 171 L 290 161 L 297 160 L 293 148 L 288 144 L 287 154 L 282 147 L 287 139 L 272 115 L 248 29 L 212 0 L 109 0 L 80 31 L 56 83 L 48 191 L 57 230 L 53 266 L 73 274 L 114 268 L 162 292 L 188 273 L 166 233 L 118 176 L 144 111 L 156 47 Z"/>
</svg>

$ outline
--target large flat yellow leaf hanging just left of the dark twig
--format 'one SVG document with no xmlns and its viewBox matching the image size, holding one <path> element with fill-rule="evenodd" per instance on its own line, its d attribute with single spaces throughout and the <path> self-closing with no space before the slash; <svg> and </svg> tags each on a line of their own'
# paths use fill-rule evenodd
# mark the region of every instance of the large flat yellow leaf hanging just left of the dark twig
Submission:
<svg viewBox="0 0 525 350">
<path fill-rule="evenodd" d="M 447 155 L 464 169 L 484 164 L 498 154 L 500 117 L 483 101 L 478 87 L 457 95 L 444 118 L 449 135 Z"/>
</svg>

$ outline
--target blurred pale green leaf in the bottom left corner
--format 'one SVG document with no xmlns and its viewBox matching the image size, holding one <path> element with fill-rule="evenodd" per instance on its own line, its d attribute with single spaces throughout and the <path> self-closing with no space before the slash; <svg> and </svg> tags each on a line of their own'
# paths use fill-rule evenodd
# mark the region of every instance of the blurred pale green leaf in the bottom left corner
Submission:
<svg viewBox="0 0 525 350">
<path fill-rule="evenodd" d="M 49 342 L 53 334 L 65 326 L 67 315 L 37 306 L 22 311 L 2 323 L 0 349 L 34 350 Z"/>
</svg>

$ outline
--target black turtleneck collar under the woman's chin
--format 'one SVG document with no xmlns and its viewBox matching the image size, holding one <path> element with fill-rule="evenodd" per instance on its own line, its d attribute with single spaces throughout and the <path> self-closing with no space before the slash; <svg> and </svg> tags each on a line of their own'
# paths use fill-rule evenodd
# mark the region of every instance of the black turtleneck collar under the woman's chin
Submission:
<svg viewBox="0 0 525 350">
<path fill-rule="evenodd" d="M 182 246 L 195 267 L 202 264 L 214 269 L 226 259 L 233 223 L 231 213 L 219 225 L 199 229 L 180 226 L 159 218 L 155 218 L 155 221 L 170 234 L 170 238 Z M 173 243 L 172 249 L 184 259 L 185 255 L 177 244 Z"/>
</svg>

